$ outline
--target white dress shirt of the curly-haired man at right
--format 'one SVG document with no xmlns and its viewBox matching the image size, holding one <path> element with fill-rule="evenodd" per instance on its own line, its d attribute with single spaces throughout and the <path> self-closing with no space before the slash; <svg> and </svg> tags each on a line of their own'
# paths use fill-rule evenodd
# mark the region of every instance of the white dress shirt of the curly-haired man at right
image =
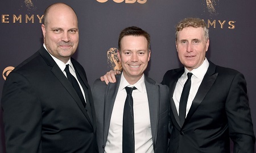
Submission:
<svg viewBox="0 0 256 153">
<path fill-rule="evenodd" d="M 200 65 L 200 67 L 193 69 L 192 71 L 188 71 L 187 68 L 184 68 L 185 71 L 184 71 L 183 75 L 179 78 L 179 80 L 177 81 L 177 84 L 176 84 L 175 90 L 174 90 L 174 95 L 172 97 L 174 99 L 174 103 L 175 103 L 178 114 L 179 114 L 180 96 L 181 96 L 181 93 L 183 90 L 183 86 L 188 78 L 187 73 L 191 72 L 193 75 L 191 77 L 191 88 L 190 88 L 190 92 L 189 92 L 189 96 L 188 96 L 186 117 L 187 117 L 188 111 L 192 105 L 193 99 L 196 96 L 197 90 L 199 89 L 199 86 L 200 86 L 201 82 L 203 81 L 204 75 L 207 72 L 208 67 L 209 67 L 209 61 L 205 57 L 205 60 L 204 60 L 203 64 Z"/>
</svg>

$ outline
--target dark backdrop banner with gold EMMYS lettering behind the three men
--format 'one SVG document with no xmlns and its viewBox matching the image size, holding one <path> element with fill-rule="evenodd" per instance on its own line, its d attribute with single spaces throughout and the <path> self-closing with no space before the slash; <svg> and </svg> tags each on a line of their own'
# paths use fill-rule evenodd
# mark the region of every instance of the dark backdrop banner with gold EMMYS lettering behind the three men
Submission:
<svg viewBox="0 0 256 153">
<path fill-rule="evenodd" d="M 178 68 L 175 25 L 199 17 L 209 27 L 207 58 L 245 75 L 256 131 L 256 1 L 238 0 L 9 0 L 0 2 L 0 97 L 6 76 L 36 52 L 43 42 L 44 10 L 55 2 L 72 6 L 79 18 L 79 48 L 73 57 L 85 68 L 89 84 L 115 67 L 119 32 L 138 26 L 151 35 L 151 60 L 146 75 L 160 82 L 168 69 Z M 5 152 L 2 109 L 0 152 Z"/>
</svg>

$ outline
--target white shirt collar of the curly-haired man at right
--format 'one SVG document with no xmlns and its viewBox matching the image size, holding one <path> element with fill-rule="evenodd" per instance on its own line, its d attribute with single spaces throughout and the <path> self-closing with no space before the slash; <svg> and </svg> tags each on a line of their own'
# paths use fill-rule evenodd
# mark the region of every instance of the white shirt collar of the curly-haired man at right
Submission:
<svg viewBox="0 0 256 153">
<path fill-rule="evenodd" d="M 203 80 L 205 73 L 207 72 L 207 69 L 209 67 L 209 61 L 207 60 L 207 57 L 205 57 L 203 64 L 200 65 L 200 67 L 196 69 L 192 69 L 192 71 L 188 71 L 187 68 L 185 68 L 184 72 L 184 79 L 187 79 L 187 73 L 191 72 L 193 75 L 201 80 Z"/>
</svg>

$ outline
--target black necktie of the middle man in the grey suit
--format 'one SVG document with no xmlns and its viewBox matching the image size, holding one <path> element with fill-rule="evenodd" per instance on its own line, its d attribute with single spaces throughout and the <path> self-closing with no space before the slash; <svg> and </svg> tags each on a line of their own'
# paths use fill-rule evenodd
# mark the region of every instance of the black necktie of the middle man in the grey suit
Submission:
<svg viewBox="0 0 256 153">
<path fill-rule="evenodd" d="M 133 97 L 131 93 L 137 88 L 125 87 L 127 97 L 125 100 L 125 107 L 123 108 L 123 152 L 134 153 L 134 116 L 133 116 Z"/>
</svg>

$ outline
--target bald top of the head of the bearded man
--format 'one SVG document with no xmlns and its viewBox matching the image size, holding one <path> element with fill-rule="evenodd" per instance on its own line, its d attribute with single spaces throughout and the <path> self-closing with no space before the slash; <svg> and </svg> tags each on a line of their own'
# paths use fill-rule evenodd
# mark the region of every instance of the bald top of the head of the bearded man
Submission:
<svg viewBox="0 0 256 153">
<path fill-rule="evenodd" d="M 77 20 L 77 15 L 75 11 L 72 9 L 72 7 L 66 5 L 65 3 L 54 3 L 46 8 L 44 11 L 44 18 L 43 18 L 43 24 L 44 26 L 47 26 L 48 22 L 51 22 L 49 20 L 48 16 L 53 16 L 53 15 L 60 15 L 60 14 L 71 14 L 74 15 L 73 17 L 76 18 Z"/>
</svg>

